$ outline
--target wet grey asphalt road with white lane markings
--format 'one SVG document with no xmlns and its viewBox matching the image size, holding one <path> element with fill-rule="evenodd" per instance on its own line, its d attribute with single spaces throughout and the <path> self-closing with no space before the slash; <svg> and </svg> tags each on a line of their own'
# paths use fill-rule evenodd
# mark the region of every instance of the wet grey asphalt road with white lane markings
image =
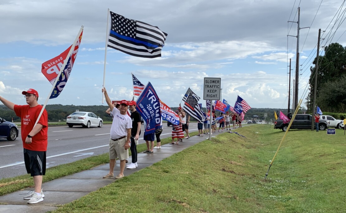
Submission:
<svg viewBox="0 0 346 213">
<path fill-rule="evenodd" d="M 139 144 L 145 143 L 143 126 Z M 48 127 L 47 168 L 92 155 L 108 153 L 110 127 L 111 125 L 89 129 L 67 126 Z M 191 123 L 189 130 L 197 131 L 197 123 Z M 167 127 L 167 124 L 164 123 L 160 138 L 171 137 L 171 133 L 172 127 Z M 23 174 L 26 174 L 26 170 L 20 133 L 15 141 L 0 139 L 0 179 Z"/>
</svg>

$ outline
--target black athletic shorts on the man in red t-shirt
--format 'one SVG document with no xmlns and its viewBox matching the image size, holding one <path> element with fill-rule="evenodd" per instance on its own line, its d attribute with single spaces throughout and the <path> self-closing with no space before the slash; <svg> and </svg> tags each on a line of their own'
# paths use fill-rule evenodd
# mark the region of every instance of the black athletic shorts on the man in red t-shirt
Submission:
<svg viewBox="0 0 346 213">
<path fill-rule="evenodd" d="M 32 176 L 46 174 L 46 151 L 32 151 L 24 148 L 26 172 Z"/>
</svg>

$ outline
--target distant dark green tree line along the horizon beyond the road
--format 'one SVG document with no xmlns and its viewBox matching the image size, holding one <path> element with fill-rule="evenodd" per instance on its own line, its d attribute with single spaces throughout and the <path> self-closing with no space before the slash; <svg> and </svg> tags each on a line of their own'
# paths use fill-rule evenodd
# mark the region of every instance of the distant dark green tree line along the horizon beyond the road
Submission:
<svg viewBox="0 0 346 213">
<path fill-rule="evenodd" d="M 112 121 L 112 118 L 106 114 L 106 110 L 108 109 L 108 106 L 104 105 L 93 105 L 93 106 L 75 106 L 75 105 L 61 105 L 61 104 L 51 104 L 46 106 L 46 110 L 48 113 L 48 121 L 49 122 L 58 122 L 59 120 L 61 122 L 66 121 L 66 117 L 71 115 L 73 112 L 76 112 L 76 110 L 79 111 L 86 111 L 86 112 L 93 112 L 102 120 L 104 121 Z M 173 111 L 177 110 L 177 107 L 171 108 Z M 202 108 L 204 112 L 206 112 L 206 108 Z M 264 120 L 264 113 L 267 113 L 266 121 L 270 121 L 271 119 L 274 119 L 274 111 L 282 111 L 284 114 L 287 113 L 287 109 L 272 109 L 272 108 L 252 108 L 247 111 L 245 114 L 244 120 L 252 120 L 254 119 L 254 116 L 257 115 L 260 120 Z M 220 115 L 221 113 L 216 111 L 216 115 Z M 279 116 L 279 115 L 278 115 Z M 0 105 L 0 117 L 12 121 L 13 122 L 20 122 L 20 118 L 16 116 L 15 112 L 8 109 L 4 105 Z M 195 119 L 191 118 L 191 121 L 195 121 Z"/>
</svg>

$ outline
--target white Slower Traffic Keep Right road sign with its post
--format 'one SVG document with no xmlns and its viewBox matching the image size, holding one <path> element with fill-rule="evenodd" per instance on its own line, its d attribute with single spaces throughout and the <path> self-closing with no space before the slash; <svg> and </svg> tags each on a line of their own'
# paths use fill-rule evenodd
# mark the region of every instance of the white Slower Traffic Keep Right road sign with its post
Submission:
<svg viewBox="0 0 346 213">
<path fill-rule="evenodd" d="M 221 97 L 221 78 L 204 78 L 203 86 L 203 100 L 220 100 Z M 212 134 L 212 105 L 210 106 L 210 127 L 209 127 L 209 140 Z"/>
</svg>

